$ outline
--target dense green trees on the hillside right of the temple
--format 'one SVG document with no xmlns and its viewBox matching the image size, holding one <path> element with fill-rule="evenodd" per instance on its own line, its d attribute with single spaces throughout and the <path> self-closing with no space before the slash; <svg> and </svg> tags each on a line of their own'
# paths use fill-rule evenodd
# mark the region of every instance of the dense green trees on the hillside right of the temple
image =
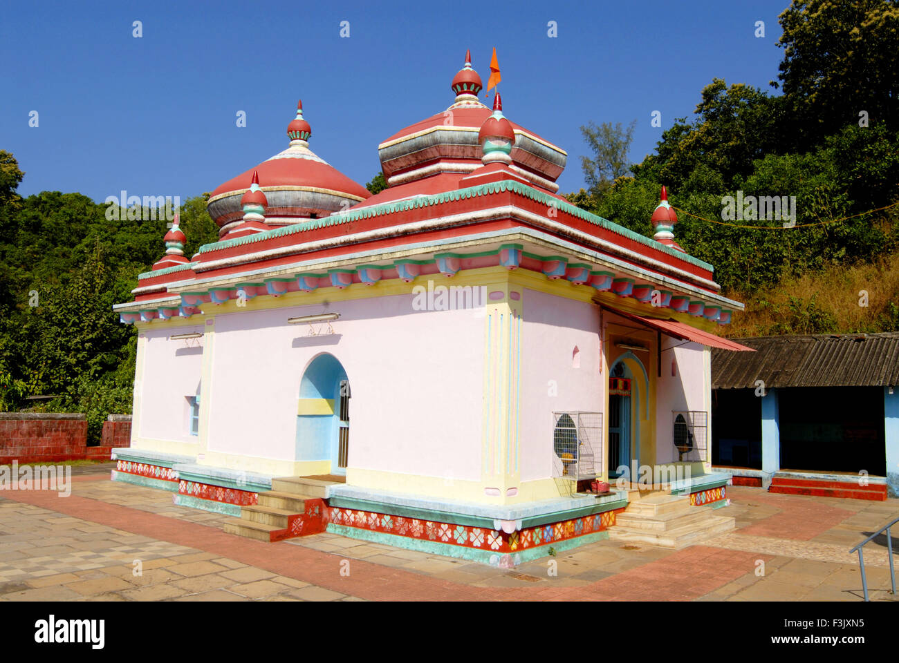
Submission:
<svg viewBox="0 0 899 663">
<path fill-rule="evenodd" d="M 783 94 L 714 78 L 693 117 L 675 119 L 654 154 L 630 166 L 632 176 L 619 177 L 601 196 L 581 190 L 568 199 L 652 235 L 649 218 L 665 184 L 672 205 L 694 215 L 679 213 L 678 243 L 716 266 L 725 291 L 752 293 L 782 278 L 895 252 L 897 208 L 840 219 L 899 201 L 897 4 L 795 1 L 780 16 Z M 868 110 L 867 124 L 859 123 L 858 110 Z M 594 140 L 587 145 L 601 154 Z M 586 168 L 584 176 L 592 182 Z M 725 225 L 725 197 L 738 192 L 795 198 L 796 225 L 806 227 L 784 229 L 783 219 L 768 218 L 734 225 L 770 229 Z M 784 310 L 783 330 L 802 328 L 790 315 L 828 328 L 815 317 L 814 302 Z"/>
</svg>

